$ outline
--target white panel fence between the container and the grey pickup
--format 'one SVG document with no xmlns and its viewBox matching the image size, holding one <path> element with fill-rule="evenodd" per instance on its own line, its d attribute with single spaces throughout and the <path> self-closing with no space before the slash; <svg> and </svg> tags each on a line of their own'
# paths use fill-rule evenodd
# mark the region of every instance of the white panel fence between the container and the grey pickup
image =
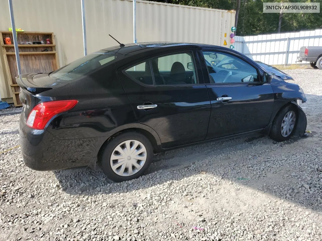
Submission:
<svg viewBox="0 0 322 241">
<path fill-rule="evenodd" d="M 245 37 L 235 36 L 236 51 L 269 65 L 295 64 L 299 49 L 303 46 L 322 47 L 322 29 Z"/>
</svg>

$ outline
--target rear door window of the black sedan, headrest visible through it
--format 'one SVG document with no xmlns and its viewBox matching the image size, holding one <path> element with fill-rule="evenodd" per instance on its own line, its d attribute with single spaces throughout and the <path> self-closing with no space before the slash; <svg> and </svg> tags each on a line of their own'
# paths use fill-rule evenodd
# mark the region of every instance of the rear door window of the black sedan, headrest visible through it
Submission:
<svg viewBox="0 0 322 241">
<path fill-rule="evenodd" d="M 192 53 L 180 53 L 151 59 L 156 85 L 197 84 Z"/>
</svg>

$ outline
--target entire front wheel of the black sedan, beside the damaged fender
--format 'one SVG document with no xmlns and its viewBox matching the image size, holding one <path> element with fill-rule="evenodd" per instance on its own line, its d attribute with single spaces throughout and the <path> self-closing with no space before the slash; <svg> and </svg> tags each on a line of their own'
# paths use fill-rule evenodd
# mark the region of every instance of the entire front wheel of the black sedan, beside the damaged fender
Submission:
<svg viewBox="0 0 322 241">
<path fill-rule="evenodd" d="M 287 114 L 290 116 L 290 118 L 286 119 L 286 121 L 290 120 L 289 125 L 285 124 L 288 122 L 285 122 L 285 119 L 284 119 L 284 117 L 286 117 Z M 294 121 L 292 121 L 293 116 L 295 116 Z M 292 136 L 292 133 L 296 128 L 297 121 L 298 121 L 298 113 L 296 108 L 293 105 L 285 106 L 278 112 L 278 114 L 276 115 L 273 121 L 272 128 L 270 131 L 270 138 L 272 138 L 275 141 L 288 140 Z M 284 128 L 282 127 L 282 124 Z M 287 129 L 288 126 L 289 126 L 289 129 Z M 284 132 L 285 129 L 287 129 L 287 131 Z"/>
</svg>

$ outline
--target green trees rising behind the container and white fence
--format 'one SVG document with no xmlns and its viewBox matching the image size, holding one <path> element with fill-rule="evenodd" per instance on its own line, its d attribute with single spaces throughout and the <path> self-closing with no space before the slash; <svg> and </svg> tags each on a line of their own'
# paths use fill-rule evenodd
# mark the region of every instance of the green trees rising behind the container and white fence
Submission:
<svg viewBox="0 0 322 241">
<path fill-rule="evenodd" d="M 154 0 L 171 4 L 235 10 L 238 0 Z M 322 7 L 322 0 L 241 0 L 237 35 L 277 33 L 279 13 L 263 13 L 263 2 L 316 2 Z M 284 13 L 281 32 L 315 30 L 322 28 L 321 13 Z"/>
</svg>

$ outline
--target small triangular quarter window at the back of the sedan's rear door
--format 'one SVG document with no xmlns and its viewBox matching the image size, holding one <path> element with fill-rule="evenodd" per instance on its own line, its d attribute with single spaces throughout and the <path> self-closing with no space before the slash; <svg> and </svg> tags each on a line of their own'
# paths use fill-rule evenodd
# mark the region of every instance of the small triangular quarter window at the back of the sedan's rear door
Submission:
<svg viewBox="0 0 322 241">
<path fill-rule="evenodd" d="M 140 63 L 125 70 L 132 79 L 135 79 L 145 85 L 153 85 L 153 78 L 149 61 Z"/>
</svg>

